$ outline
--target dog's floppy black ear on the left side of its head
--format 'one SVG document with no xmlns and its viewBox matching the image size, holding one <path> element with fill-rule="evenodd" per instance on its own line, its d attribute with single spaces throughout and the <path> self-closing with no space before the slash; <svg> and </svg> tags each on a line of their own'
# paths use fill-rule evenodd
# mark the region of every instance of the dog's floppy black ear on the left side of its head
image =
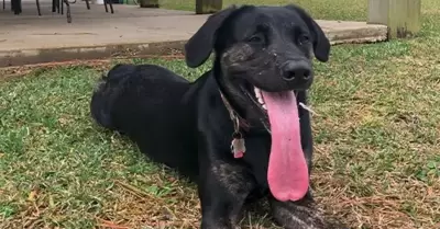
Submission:
<svg viewBox="0 0 440 229">
<path fill-rule="evenodd" d="M 219 11 L 208 18 L 201 27 L 185 44 L 185 60 L 188 67 L 197 68 L 202 65 L 212 51 L 216 42 L 216 32 L 223 24 L 237 7 Z"/>
</svg>

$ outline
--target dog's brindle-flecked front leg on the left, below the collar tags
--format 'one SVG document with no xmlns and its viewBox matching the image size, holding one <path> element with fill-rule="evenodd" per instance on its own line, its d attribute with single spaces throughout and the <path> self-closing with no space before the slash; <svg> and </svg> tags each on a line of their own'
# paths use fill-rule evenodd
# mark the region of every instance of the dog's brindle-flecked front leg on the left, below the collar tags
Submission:
<svg viewBox="0 0 440 229">
<path fill-rule="evenodd" d="M 245 168 L 215 161 L 200 171 L 201 229 L 232 229 L 255 183 Z"/>
</svg>

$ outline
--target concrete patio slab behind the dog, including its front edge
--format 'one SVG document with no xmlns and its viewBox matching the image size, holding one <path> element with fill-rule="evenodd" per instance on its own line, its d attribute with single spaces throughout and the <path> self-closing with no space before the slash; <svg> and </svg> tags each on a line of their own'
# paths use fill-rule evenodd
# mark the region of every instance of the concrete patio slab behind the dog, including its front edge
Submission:
<svg viewBox="0 0 440 229">
<path fill-rule="evenodd" d="M 98 4 L 87 10 L 85 2 L 77 0 L 72 4 L 73 22 L 68 24 L 65 14 L 52 13 L 50 2 L 42 2 L 42 16 L 37 16 L 34 1 L 23 4 L 20 15 L 14 15 L 9 5 L 6 11 L 0 10 L 0 67 L 169 53 L 182 48 L 208 16 L 124 4 L 113 4 L 116 12 L 111 14 Z M 318 23 L 333 44 L 386 38 L 386 27 L 382 25 Z"/>
</svg>

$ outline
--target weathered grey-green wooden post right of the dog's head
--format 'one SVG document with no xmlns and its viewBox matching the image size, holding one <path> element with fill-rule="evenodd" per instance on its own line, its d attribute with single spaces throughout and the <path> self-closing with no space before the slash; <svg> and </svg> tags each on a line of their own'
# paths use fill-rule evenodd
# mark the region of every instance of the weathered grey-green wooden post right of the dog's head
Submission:
<svg viewBox="0 0 440 229">
<path fill-rule="evenodd" d="M 405 38 L 420 31 L 421 0 L 369 0 L 369 24 L 388 26 L 388 38 Z"/>
</svg>

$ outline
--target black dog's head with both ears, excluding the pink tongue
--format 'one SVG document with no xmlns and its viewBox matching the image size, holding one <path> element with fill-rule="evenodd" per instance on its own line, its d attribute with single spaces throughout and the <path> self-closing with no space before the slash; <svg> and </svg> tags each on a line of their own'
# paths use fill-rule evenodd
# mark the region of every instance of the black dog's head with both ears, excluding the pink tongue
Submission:
<svg viewBox="0 0 440 229">
<path fill-rule="evenodd" d="M 267 127 L 264 92 L 307 90 L 314 81 L 311 59 L 327 61 L 330 43 L 296 5 L 232 5 L 211 15 L 188 41 L 187 65 L 202 65 L 212 49 L 221 91 L 245 119 Z"/>
</svg>

